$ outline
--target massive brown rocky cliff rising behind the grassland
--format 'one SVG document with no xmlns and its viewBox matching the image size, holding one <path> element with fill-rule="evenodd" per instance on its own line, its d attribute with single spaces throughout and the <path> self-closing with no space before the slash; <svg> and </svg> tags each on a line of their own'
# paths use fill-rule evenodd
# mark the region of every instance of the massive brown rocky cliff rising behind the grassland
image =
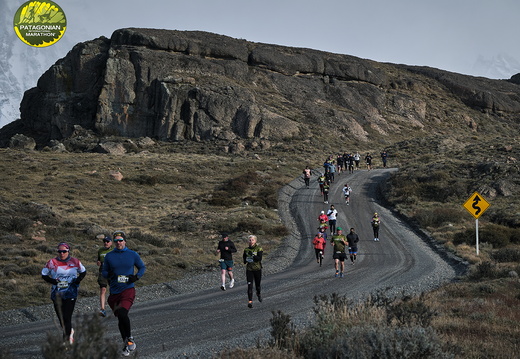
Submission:
<svg viewBox="0 0 520 359">
<path fill-rule="evenodd" d="M 76 45 L 28 90 L 0 130 L 38 145 L 71 136 L 281 140 L 316 131 L 357 141 L 497 118 L 518 124 L 517 81 L 377 63 L 205 32 L 121 29 Z M 418 131 L 418 132 L 417 132 Z"/>
</svg>

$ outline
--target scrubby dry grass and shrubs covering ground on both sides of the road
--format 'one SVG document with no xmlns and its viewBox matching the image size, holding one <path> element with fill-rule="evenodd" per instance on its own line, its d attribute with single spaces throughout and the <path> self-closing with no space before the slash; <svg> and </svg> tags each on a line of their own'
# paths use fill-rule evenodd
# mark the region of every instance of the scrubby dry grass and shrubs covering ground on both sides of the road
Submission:
<svg viewBox="0 0 520 359">
<path fill-rule="evenodd" d="M 317 298 L 322 309 L 310 328 L 296 329 L 290 317 L 274 312 L 269 346 L 227 350 L 221 358 L 347 357 L 354 349 L 359 358 L 514 357 L 520 343 L 520 154 L 516 148 L 495 151 L 498 140 L 491 137 L 479 142 L 488 150 L 478 160 L 471 143 L 434 155 L 441 141 L 429 140 L 386 146 L 389 163 L 400 171 L 384 200 L 471 263 L 468 276 L 418 298 Z M 275 211 L 278 189 L 303 166 L 318 168 L 325 153 L 342 150 L 330 141 L 293 140 L 258 149 L 259 156 L 227 154 L 207 143 L 160 144 L 123 156 L 1 149 L 0 309 L 48 303 L 39 273 L 61 240 L 70 241 L 73 255 L 95 273 L 95 235 L 127 231 L 129 247 L 154 263 L 144 285 L 207 270 L 222 231 L 239 245 L 254 232 L 264 248 L 276 247 L 287 234 Z M 368 150 L 351 147 L 357 146 Z M 114 170 L 122 181 L 110 177 Z M 475 222 L 461 206 L 474 191 L 492 203 L 479 222 L 479 256 Z M 190 246 L 190 233 L 203 245 Z M 83 283 L 81 296 L 96 295 L 95 276 Z M 358 345 L 352 347 L 349 336 L 359 338 Z"/>
</svg>

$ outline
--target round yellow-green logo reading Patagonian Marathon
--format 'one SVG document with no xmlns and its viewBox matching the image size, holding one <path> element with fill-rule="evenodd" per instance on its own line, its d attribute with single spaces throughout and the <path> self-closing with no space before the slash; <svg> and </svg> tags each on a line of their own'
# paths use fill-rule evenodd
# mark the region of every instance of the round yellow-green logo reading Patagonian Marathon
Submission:
<svg viewBox="0 0 520 359">
<path fill-rule="evenodd" d="M 28 1 L 14 15 L 14 31 L 29 46 L 46 47 L 58 42 L 67 29 L 61 7 L 52 1 Z"/>
</svg>

